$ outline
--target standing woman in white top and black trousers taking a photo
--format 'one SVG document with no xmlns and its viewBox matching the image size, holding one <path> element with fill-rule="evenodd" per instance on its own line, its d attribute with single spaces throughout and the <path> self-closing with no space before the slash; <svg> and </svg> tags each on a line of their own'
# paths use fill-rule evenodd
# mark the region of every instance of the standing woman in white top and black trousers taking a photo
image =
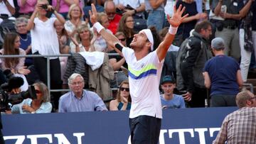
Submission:
<svg viewBox="0 0 256 144">
<path fill-rule="evenodd" d="M 47 5 L 47 9 L 43 6 Z M 56 18 L 47 18 L 47 11 L 53 11 Z M 38 0 L 36 9 L 28 21 L 27 30 L 31 31 L 32 52 L 35 55 L 60 55 L 58 35 L 55 30 L 56 21 L 65 23 L 65 19 L 50 6 L 47 0 Z M 34 65 L 41 81 L 47 84 L 46 57 L 34 58 Z M 60 89 L 60 60 L 50 57 L 50 89 Z M 60 94 L 54 95 L 55 107 L 58 108 Z"/>
</svg>

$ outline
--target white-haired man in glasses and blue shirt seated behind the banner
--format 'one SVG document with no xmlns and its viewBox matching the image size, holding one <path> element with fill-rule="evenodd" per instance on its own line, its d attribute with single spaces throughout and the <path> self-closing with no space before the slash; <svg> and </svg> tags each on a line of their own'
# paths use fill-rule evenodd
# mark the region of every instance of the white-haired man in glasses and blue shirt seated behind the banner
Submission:
<svg viewBox="0 0 256 144">
<path fill-rule="evenodd" d="M 71 92 L 60 96 L 58 111 L 80 112 L 80 111 L 107 111 L 107 108 L 95 92 L 86 91 L 82 75 L 74 73 L 68 78 L 68 86 Z"/>
</svg>

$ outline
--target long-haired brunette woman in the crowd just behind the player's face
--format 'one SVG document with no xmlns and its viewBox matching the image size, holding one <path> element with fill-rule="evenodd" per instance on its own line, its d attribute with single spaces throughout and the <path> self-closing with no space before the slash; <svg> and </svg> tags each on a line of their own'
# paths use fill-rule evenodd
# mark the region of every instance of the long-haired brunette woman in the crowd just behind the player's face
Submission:
<svg viewBox="0 0 256 144">
<path fill-rule="evenodd" d="M 133 35 L 135 34 L 134 18 L 132 18 L 132 16 L 129 14 L 124 14 L 124 16 L 122 16 L 121 20 L 119 21 L 117 31 L 122 31 L 124 33 L 127 40 L 127 47 L 129 47 L 129 44 L 132 42 Z"/>
</svg>

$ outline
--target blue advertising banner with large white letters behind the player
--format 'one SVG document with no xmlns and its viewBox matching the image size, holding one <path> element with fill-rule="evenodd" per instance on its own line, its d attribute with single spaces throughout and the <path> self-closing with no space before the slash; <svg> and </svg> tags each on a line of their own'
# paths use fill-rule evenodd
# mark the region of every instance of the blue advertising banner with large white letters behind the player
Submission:
<svg viewBox="0 0 256 144">
<path fill-rule="evenodd" d="M 159 144 L 212 143 L 223 118 L 236 109 L 166 109 Z M 6 144 L 129 143 L 129 111 L 14 114 L 2 122 Z"/>
</svg>

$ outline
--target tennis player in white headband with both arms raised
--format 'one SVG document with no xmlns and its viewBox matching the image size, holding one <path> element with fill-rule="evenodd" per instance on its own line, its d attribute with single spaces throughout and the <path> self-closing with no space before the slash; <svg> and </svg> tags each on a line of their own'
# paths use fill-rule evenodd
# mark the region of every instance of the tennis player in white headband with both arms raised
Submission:
<svg viewBox="0 0 256 144">
<path fill-rule="evenodd" d="M 97 11 L 92 4 L 90 20 L 97 32 L 115 50 L 124 56 L 129 70 L 129 89 L 132 107 L 129 113 L 129 126 L 133 144 L 156 144 L 161 128 L 161 100 L 159 80 L 166 52 L 174 40 L 178 26 L 188 15 L 182 16 L 185 7 L 174 8 L 174 15 L 169 18 L 169 33 L 158 45 L 156 30 L 144 29 L 134 35 L 131 48 L 125 48 L 114 35 L 107 33 L 97 22 Z M 155 50 L 156 49 L 156 50 Z"/>
</svg>

